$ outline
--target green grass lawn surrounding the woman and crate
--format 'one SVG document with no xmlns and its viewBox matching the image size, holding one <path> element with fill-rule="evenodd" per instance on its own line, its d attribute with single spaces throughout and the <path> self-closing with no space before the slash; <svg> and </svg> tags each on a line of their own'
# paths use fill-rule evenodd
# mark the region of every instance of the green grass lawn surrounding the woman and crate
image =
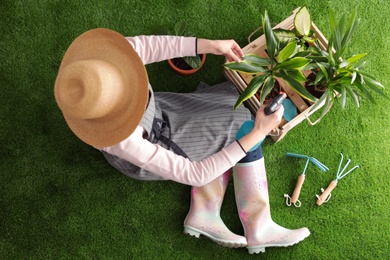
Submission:
<svg viewBox="0 0 390 260">
<path fill-rule="evenodd" d="M 83 3 L 85 2 L 85 3 Z M 352 3 L 351 3 L 352 2 Z M 280 22 L 306 4 L 328 35 L 327 9 L 341 16 L 356 6 L 362 18 L 350 53 L 368 52 L 367 70 L 389 86 L 388 1 L 55 1 L 3 0 L 0 6 L 0 258 L 242 259 L 246 249 L 228 249 L 182 234 L 190 187 L 141 182 L 110 167 L 102 155 L 68 129 L 53 96 L 66 48 L 82 32 L 107 27 L 124 35 L 153 34 L 185 20 L 199 37 L 235 39 L 242 47 L 267 8 Z M 190 77 L 167 63 L 148 65 L 158 91 L 189 92 L 199 81 L 225 80 L 222 57 L 209 55 Z M 389 94 L 387 90 L 387 94 Z M 272 215 L 288 228 L 307 226 L 312 235 L 297 246 L 270 248 L 257 258 L 387 259 L 389 249 L 389 101 L 335 104 L 323 121 L 303 122 L 278 143 L 267 139 Z M 330 171 L 310 165 L 300 208 L 287 207 L 304 160 L 314 156 Z M 362 167 L 339 182 L 318 207 L 315 194 L 335 178 L 339 153 Z M 223 218 L 242 233 L 229 185 Z"/>
</svg>

